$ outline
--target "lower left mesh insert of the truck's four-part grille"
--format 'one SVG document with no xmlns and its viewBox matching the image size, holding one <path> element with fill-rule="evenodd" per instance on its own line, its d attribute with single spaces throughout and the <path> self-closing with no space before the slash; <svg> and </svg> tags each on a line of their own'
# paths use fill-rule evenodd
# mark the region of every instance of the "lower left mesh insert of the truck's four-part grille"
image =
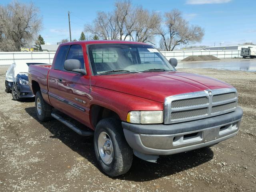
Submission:
<svg viewBox="0 0 256 192">
<path fill-rule="evenodd" d="M 184 118 L 191 118 L 191 117 L 206 115 L 207 109 L 208 108 L 201 108 L 201 109 L 172 112 L 171 119 L 176 120 L 176 119 L 184 119 Z"/>
</svg>

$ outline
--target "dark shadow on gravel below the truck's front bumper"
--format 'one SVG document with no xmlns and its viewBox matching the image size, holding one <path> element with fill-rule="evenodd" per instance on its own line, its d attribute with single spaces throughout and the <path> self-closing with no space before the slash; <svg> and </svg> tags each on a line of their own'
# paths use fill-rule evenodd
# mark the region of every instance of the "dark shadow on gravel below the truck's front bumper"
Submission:
<svg viewBox="0 0 256 192">
<path fill-rule="evenodd" d="M 158 163 L 150 163 L 134 157 L 130 171 L 118 179 L 143 182 L 163 178 L 199 166 L 210 161 L 213 156 L 214 153 L 210 148 L 202 148 L 169 156 L 160 156 Z"/>
</svg>

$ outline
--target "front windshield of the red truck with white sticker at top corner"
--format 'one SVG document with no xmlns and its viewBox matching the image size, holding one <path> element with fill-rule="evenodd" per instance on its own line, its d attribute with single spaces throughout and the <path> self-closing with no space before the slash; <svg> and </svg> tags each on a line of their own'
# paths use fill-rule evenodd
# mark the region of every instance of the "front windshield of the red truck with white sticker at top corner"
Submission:
<svg viewBox="0 0 256 192">
<path fill-rule="evenodd" d="M 153 46 L 143 44 L 92 44 L 88 53 L 94 75 L 175 71 Z"/>
</svg>

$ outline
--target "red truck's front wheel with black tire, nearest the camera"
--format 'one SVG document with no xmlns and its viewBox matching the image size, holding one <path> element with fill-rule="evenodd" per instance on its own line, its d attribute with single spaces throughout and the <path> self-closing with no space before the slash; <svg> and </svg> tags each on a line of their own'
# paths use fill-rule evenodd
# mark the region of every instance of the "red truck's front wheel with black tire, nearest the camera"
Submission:
<svg viewBox="0 0 256 192">
<path fill-rule="evenodd" d="M 98 122 L 94 150 L 101 169 L 111 177 L 125 174 L 132 166 L 132 148 L 126 142 L 119 120 L 106 118 Z"/>
</svg>

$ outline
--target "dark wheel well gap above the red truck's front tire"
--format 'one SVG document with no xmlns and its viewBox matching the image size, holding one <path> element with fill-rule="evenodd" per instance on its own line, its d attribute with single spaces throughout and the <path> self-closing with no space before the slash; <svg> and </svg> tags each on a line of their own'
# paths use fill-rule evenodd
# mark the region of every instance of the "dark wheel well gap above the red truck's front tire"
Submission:
<svg viewBox="0 0 256 192">
<path fill-rule="evenodd" d="M 116 112 L 114 112 L 108 108 L 105 108 L 105 107 L 102 107 L 99 105 L 93 105 L 91 107 L 90 120 L 91 120 L 94 128 L 96 127 L 97 123 L 100 120 L 105 119 L 105 118 L 115 118 L 115 119 L 120 120 L 119 115 Z"/>
</svg>

